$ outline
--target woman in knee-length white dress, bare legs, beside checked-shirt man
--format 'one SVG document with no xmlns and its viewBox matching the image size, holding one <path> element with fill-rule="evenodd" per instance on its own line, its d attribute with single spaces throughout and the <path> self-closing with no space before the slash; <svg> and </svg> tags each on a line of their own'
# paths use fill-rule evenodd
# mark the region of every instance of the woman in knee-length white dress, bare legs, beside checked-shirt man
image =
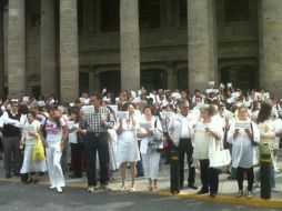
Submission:
<svg viewBox="0 0 282 211">
<path fill-rule="evenodd" d="M 140 160 L 140 153 L 137 140 L 137 130 L 139 124 L 134 115 L 134 104 L 125 103 L 122 108 L 123 111 L 129 112 L 128 120 L 120 120 L 119 128 L 117 130 L 119 135 L 118 141 L 118 163 L 121 167 L 121 178 L 122 185 L 121 191 L 127 190 L 125 179 L 127 179 L 127 164 L 130 162 L 131 172 L 131 189 L 130 192 L 135 191 L 135 163 Z"/>
</svg>

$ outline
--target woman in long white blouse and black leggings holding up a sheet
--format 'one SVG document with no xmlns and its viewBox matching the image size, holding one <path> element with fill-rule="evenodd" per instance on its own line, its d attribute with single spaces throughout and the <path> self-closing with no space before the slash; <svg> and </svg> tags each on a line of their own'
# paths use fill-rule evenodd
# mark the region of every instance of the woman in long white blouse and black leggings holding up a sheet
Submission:
<svg viewBox="0 0 282 211">
<path fill-rule="evenodd" d="M 238 110 L 238 120 L 231 123 L 228 141 L 232 147 L 232 167 L 236 169 L 238 198 L 243 197 L 244 173 L 248 175 L 248 199 L 252 199 L 254 181 L 253 167 L 259 163 L 255 144 L 260 143 L 258 125 L 248 117 L 248 108 Z"/>
</svg>

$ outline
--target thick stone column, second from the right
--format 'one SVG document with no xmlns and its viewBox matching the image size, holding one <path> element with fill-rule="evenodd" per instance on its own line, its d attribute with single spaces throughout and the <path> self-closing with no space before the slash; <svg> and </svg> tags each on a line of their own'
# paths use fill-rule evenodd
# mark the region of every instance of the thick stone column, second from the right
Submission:
<svg viewBox="0 0 282 211">
<path fill-rule="evenodd" d="M 214 6 L 212 0 L 188 0 L 189 89 L 204 90 L 216 81 L 218 58 Z"/>
</svg>

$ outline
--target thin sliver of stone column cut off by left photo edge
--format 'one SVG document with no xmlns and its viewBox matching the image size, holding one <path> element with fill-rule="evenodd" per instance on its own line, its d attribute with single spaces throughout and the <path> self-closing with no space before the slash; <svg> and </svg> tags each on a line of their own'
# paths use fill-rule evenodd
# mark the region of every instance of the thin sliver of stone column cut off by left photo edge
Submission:
<svg viewBox="0 0 282 211">
<path fill-rule="evenodd" d="M 0 1 L 0 99 L 4 92 L 4 31 L 3 31 L 3 1 Z"/>
</svg>

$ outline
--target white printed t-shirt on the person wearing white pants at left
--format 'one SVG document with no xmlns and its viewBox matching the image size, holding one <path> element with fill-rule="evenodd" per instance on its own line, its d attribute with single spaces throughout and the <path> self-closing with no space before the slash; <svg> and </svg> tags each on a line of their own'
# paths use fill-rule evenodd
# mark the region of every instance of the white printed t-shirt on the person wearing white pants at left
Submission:
<svg viewBox="0 0 282 211">
<path fill-rule="evenodd" d="M 49 119 L 43 120 L 41 122 L 42 125 L 46 123 L 46 133 L 47 133 L 47 142 L 48 143 L 54 143 L 54 142 L 61 142 L 62 140 L 62 127 L 66 125 L 66 121 L 61 118 L 61 127 L 58 127 L 56 121 L 50 121 Z"/>
</svg>

